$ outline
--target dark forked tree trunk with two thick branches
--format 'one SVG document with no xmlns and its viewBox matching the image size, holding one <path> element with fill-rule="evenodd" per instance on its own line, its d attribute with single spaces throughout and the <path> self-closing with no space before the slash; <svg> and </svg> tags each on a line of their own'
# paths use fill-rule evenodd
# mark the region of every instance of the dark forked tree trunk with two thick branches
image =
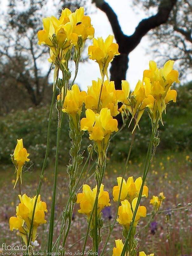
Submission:
<svg viewBox="0 0 192 256">
<path fill-rule="evenodd" d="M 137 1 L 140 2 L 140 0 Z M 145 36 L 148 31 L 168 21 L 170 12 L 173 10 L 177 0 L 156 0 L 155 7 L 158 9 L 157 13 L 141 20 L 135 28 L 134 33 L 130 36 L 123 33 L 117 15 L 108 3 L 104 0 L 92 0 L 92 2 L 95 3 L 100 10 L 106 13 L 111 24 L 114 37 L 119 44 L 120 55 L 114 58 L 110 68 L 111 80 L 115 81 L 116 88 L 119 89 L 121 88 L 121 80 L 126 79 L 129 53 L 135 49 L 135 47 L 141 42 L 142 37 Z M 145 2 L 150 1 L 146 0 Z"/>
</svg>

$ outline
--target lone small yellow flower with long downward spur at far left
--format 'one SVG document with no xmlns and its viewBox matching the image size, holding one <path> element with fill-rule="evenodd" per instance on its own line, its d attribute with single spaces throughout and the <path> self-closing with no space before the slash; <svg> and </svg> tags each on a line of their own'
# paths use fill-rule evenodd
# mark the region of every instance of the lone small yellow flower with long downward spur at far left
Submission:
<svg viewBox="0 0 192 256">
<path fill-rule="evenodd" d="M 14 164 L 17 172 L 17 178 L 16 178 L 14 188 L 17 184 L 19 177 L 21 179 L 21 184 L 22 184 L 22 178 L 21 178 L 22 169 L 23 169 L 24 163 L 29 162 L 30 160 L 29 158 L 27 158 L 28 156 L 29 156 L 29 153 L 27 153 L 27 150 L 23 147 L 23 139 L 17 140 L 17 145 L 13 153 Z"/>
</svg>

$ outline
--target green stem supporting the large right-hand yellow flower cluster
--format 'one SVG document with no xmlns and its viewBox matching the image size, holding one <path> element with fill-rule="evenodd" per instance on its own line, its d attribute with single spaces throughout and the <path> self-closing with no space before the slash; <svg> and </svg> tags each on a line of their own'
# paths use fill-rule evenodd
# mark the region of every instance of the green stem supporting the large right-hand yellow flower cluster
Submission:
<svg viewBox="0 0 192 256">
<path fill-rule="evenodd" d="M 129 227 L 129 230 L 128 230 L 128 233 L 127 233 L 127 238 L 125 240 L 125 244 L 123 246 L 123 250 L 122 250 L 120 256 L 124 256 L 125 253 L 126 253 L 129 236 L 131 234 L 131 231 L 132 231 L 132 228 L 133 228 L 133 225 L 134 225 L 134 220 L 135 220 L 135 217 L 136 217 L 136 214 L 137 214 L 137 210 L 139 208 L 139 204 L 140 204 L 140 201 L 141 201 L 143 186 L 144 186 L 145 179 L 146 179 L 146 176 L 147 176 L 147 172 L 148 172 L 148 169 L 149 169 L 149 166 L 150 166 L 150 163 L 151 163 L 150 162 L 151 154 L 152 154 L 151 152 L 152 152 L 154 136 L 155 136 L 157 128 L 158 128 L 158 121 L 159 121 L 159 118 L 157 117 L 154 126 L 152 126 L 152 134 L 151 134 L 151 138 L 150 138 L 150 142 L 149 142 L 149 146 L 148 146 L 148 150 L 147 150 L 147 156 L 146 156 L 146 161 L 145 161 L 145 167 L 144 167 L 144 172 L 143 172 L 143 179 L 142 179 L 141 189 L 139 191 L 139 196 L 138 196 L 138 199 L 137 199 L 137 204 L 135 206 L 132 222 L 131 222 L 131 225 Z"/>
</svg>

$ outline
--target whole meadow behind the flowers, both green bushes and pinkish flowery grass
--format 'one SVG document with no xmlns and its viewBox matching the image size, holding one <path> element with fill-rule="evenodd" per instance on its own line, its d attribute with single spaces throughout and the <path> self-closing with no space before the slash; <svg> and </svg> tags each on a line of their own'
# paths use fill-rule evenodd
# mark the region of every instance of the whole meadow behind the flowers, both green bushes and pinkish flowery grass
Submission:
<svg viewBox="0 0 192 256">
<path fill-rule="evenodd" d="M 170 104 L 167 114 L 163 116 L 164 126 L 160 125 L 160 145 L 151 164 L 146 184 L 149 195 L 142 198 L 141 204 L 147 207 L 147 217 L 141 218 L 136 237 L 139 241 L 139 251 L 152 251 L 155 255 L 163 256 L 189 256 L 192 255 L 192 157 L 191 157 L 191 84 L 177 88 L 177 104 Z M 16 138 L 23 137 L 25 146 L 30 152 L 30 162 L 23 169 L 22 193 L 35 196 L 38 186 L 41 165 L 45 155 L 46 129 L 49 107 L 30 108 L 11 112 L 0 117 L 0 245 L 3 243 L 17 245 L 21 237 L 17 232 L 9 229 L 9 218 L 15 214 L 15 205 L 18 204 L 18 187 L 13 190 L 15 183 L 14 167 L 11 165 L 10 154 L 13 153 Z M 66 117 L 67 118 L 67 117 Z M 37 240 L 40 244 L 35 251 L 46 252 L 48 239 L 49 219 L 51 212 L 52 187 L 54 179 L 54 155 L 56 138 L 57 115 L 54 111 L 51 125 L 50 154 L 45 176 L 41 188 L 42 200 L 47 203 L 47 224 L 38 229 Z M 134 176 L 134 180 L 142 176 L 145 153 L 149 142 L 150 125 L 147 113 L 144 113 L 140 122 L 140 130 L 135 135 L 135 144 L 132 149 L 125 179 Z M 105 190 L 109 192 L 110 207 L 102 211 L 104 225 L 102 227 L 102 242 L 105 242 L 109 232 L 109 225 L 113 223 L 116 211 L 116 202 L 113 201 L 112 189 L 116 185 L 116 177 L 122 176 L 127 150 L 131 141 L 131 130 L 127 126 L 118 132 L 110 142 L 106 164 L 106 172 L 103 183 Z M 68 199 L 68 174 L 67 163 L 69 159 L 69 148 L 71 142 L 68 137 L 68 122 L 64 122 L 61 134 L 61 148 L 58 166 L 58 184 L 55 204 L 55 228 L 53 244 L 60 230 L 62 211 Z M 82 151 L 84 150 L 84 162 L 87 157 L 86 148 L 90 144 L 88 137 L 84 135 Z M 95 184 L 96 154 L 93 161 L 86 166 L 86 170 L 79 185 L 81 192 L 82 184 Z M 82 164 L 83 165 L 83 164 Z M 80 170 L 82 168 L 80 167 Z M 166 199 L 163 201 L 158 214 L 151 215 L 152 205 L 149 203 L 153 195 L 164 193 Z M 66 241 L 67 252 L 81 250 L 84 243 L 87 223 L 84 215 L 78 213 L 79 205 L 75 204 L 72 216 L 71 230 Z M 114 239 L 121 236 L 122 228 L 115 225 L 112 237 L 107 243 L 105 253 L 112 255 Z M 86 250 L 92 247 L 92 241 L 88 238 Z M 0 249 L 1 250 L 1 249 Z"/>
</svg>

